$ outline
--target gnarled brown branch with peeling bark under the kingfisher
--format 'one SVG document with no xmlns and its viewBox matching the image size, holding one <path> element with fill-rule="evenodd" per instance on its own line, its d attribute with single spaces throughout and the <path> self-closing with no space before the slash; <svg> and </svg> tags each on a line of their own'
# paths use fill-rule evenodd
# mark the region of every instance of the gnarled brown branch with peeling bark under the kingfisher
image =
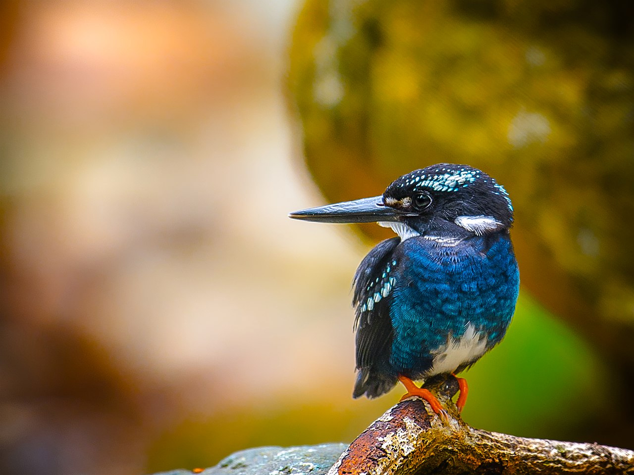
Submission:
<svg viewBox="0 0 634 475">
<path fill-rule="evenodd" d="M 420 398 L 398 403 L 353 441 L 328 475 L 634 474 L 631 450 L 474 429 L 454 409 L 454 377 L 425 387 L 448 408 L 448 421 Z"/>
</svg>

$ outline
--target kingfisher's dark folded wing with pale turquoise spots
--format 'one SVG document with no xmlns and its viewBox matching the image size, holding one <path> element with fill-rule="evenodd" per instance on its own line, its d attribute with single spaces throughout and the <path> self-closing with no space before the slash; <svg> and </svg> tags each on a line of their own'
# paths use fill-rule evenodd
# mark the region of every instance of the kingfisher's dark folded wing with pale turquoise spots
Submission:
<svg viewBox="0 0 634 475">
<path fill-rule="evenodd" d="M 389 358 L 392 321 L 389 301 L 394 286 L 394 249 L 401 238 L 386 239 L 361 261 L 354 274 L 353 305 L 356 312 L 356 366 L 359 370 L 353 397 L 377 397 L 391 390 L 397 375 Z"/>
</svg>

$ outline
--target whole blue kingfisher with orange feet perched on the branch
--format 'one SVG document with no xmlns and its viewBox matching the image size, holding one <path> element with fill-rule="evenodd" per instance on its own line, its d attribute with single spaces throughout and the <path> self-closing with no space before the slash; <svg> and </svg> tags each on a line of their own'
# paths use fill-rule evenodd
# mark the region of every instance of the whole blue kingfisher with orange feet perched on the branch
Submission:
<svg viewBox="0 0 634 475">
<path fill-rule="evenodd" d="M 290 213 L 328 223 L 377 222 L 398 235 L 375 246 L 353 279 L 353 397 L 375 398 L 400 381 L 446 418 L 417 386 L 453 375 L 462 411 L 469 386 L 456 376 L 500 343 L 515 311 L 519 269 L 507 191 L 469 165 L 439 163 L 393 181 L 380 196 Z"/>
</svg>

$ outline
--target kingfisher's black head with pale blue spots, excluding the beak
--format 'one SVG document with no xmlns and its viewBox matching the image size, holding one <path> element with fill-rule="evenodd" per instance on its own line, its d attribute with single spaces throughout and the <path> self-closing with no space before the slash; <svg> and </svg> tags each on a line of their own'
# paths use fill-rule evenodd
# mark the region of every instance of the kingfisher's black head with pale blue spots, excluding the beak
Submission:
<svg viewBox="0 0 634 475">
<path fill-rule="evenodd" d="M 437 231 L 480 236 L 513 222 L 504 187 L 469 165 L 440 163 L 403 175 L 385 189 L 383 205 L 399 213 L 398 221 L 385 225 L 405 239 Z"/>
</svg>

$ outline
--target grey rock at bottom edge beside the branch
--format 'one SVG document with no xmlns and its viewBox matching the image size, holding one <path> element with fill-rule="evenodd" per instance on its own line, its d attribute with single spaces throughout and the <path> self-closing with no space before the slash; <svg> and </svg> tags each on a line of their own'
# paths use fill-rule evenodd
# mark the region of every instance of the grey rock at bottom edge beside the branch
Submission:
<svg viewBox="0 0 634 475">
<path fill-rule="evenodd" d="M 322 475 L 333 466 L 347 445 L 330 443 L 300 447 L 257 447 L 240 450 L 201 475 Z M 191 475 L 177 469 L 155 475 Z"/>
</svg>

